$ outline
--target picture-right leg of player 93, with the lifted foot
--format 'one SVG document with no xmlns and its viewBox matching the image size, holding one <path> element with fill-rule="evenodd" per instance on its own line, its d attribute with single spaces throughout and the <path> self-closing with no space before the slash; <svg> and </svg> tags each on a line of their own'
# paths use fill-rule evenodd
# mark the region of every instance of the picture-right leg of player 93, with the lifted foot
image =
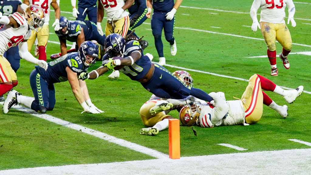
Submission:
<svg viewBox="0 0 311 175">
<path fill-rule="evenodd" d="M 280 54 L 280 59 L 283 61 L 283 66 L 285 69 L 290 69 L 290 63 L 287 59 L 287 55 L 292 49 L 292 40 L 290 36 L 290 31 L 286 24 L 277 24 L 278 30 L 276 31 L 276 40 L 282 45 L 283 51 Z"/>
</svg>

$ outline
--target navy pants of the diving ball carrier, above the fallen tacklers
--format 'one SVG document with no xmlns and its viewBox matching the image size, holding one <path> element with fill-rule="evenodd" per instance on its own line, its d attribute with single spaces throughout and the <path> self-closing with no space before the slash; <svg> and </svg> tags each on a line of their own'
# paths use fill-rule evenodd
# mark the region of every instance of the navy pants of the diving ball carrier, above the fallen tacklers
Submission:
<svg viewBox="0 0 311 175">
<path fill-rule="evenodd" d="M 158 64 L 155 64 L 151 80 L 147 83 L 142 83 L 142 86 L 147 91 L 161 98 L 183 99 L 192 95 L 208 102 L 213 100 L 206 92 L 187 86 L 173 73 Z"/>
</svg>

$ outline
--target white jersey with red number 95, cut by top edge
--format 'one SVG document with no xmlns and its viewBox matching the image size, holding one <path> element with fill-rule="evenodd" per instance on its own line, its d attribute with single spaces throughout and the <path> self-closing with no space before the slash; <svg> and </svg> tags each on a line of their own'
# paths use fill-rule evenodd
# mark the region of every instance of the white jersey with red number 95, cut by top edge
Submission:
<svg viewBox="0 0 311 175">
<path fill-rule="evenodd" d="M 100 2 L 103 4 L 104 11 L 107 15 L 107 21 L 111 21 L 112 17 L 115 12 L 117 12 L 120 8 L 124 6 L 124 0 L 116 0 L 114 1 L 114 4 L 108 5 L 108 0 L 100 0 Z M 110 3 L 110 2 L 109 2 Z M 119 17 L 119 19 L 128 16 L 128 12 L 125 10 L 122 15 Z M 117 20 L 119 20 L 117 19 Z"/>
</svg>

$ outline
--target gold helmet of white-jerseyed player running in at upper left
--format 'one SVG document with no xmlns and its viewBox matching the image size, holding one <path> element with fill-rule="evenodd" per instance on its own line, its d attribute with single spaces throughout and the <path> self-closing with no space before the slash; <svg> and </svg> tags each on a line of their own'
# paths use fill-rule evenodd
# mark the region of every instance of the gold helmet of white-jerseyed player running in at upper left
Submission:
<svg viewBox="0 0 311 175">
<path fill-rule="evenodd" d="M 24 16 L 31 30 L 39 32 L 42 29 L 45 22 L 45 13 L 40 6 L 29 5 L 24 12 Z"/>
</svg>

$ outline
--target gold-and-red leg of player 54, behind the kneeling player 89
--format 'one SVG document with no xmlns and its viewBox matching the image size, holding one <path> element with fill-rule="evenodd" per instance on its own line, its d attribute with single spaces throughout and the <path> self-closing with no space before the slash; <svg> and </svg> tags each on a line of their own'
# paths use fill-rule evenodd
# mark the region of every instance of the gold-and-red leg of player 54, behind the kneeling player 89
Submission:
<svg viewBox="0 0 311 175">
<path fill-rule="evenodd" d="M 49 25 L 44 25 L 42 30 L 37 34 L 38 46 L 39 46 L 39 60 L 46 61 L 45 47 L 49 40 Z"/>
</svg>

